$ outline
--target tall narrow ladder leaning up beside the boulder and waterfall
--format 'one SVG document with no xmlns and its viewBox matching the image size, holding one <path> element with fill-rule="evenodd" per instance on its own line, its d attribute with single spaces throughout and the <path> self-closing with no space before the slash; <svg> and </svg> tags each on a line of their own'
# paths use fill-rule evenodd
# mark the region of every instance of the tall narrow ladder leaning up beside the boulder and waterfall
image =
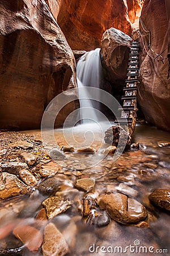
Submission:
<svg viewBox="0 0 170 256">
<path fill-rule="evenodd" d="M 126 122 L 132 123 L 131 111 L 137 108 L 137 83 L 139 76 L 139 43 L 133 42 L 130 48 L 129 62 L 127 69 L 127 79 L 125 80 L 126 86 L 124 87 L 125 95 L 121 100 L 124 101 L 122 108 L 119 108 L 121 115 L 116 118 L 114 123 L 124 124 Z M 124 110 L 124 112 L 122 111 Z"/>
</svg>

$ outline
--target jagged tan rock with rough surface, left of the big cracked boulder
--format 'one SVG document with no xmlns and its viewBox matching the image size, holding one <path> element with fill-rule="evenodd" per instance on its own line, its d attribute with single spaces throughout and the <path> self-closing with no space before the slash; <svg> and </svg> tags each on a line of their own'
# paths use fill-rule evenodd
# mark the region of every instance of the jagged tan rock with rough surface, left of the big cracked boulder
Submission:
<svg viewBox="0 0 170 256">
<path fill-rule="evenodd" d="M 58 214 L 66 212 L 72 205 L 69 200 L 64 200 L 61 196 L 48 197 L 42 202 L 42 205 L 46 209 L 46 216 L 51 220 Z"/>
</svg>

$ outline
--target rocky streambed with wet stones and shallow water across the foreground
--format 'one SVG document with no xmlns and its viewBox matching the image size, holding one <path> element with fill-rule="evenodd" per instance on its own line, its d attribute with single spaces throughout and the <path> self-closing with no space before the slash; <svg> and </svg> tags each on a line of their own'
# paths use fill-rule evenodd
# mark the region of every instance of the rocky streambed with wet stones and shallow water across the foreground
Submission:
<svg viewBox="0 0 170 256">
<path fill-rule="evenodd" d="M 61 130 L 56 141 L 60 163 L 94 154 L 99 143 L 80 152 Z M 169 141 L 168 133 L 138 125 L 139 148 L 115 162 L 109 148 L 94 167 L 79 160 L 63 167 L 46 153 L 40 131 L 1 131 L 0 255 L 121 255 L 130 245 L 167 255 L 161 250 L 170 239 Z"/>
</svg>

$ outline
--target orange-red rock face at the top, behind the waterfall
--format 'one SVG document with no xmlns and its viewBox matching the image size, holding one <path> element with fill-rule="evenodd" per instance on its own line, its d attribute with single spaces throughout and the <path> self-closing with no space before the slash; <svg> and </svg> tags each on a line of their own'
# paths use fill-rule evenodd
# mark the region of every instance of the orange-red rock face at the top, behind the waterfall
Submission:
<svg viewBox="0 0 170 256">
<path fill-rule="evenodd" d="M 90 51 L 100 47 L 101 36 L 110 27 L 128 35 L 132 31 L 128 5 L 124 0 L 65 0 L 58 17 L 57 13 L 54 17 L 70 47 L 76 50 Z"/>
</svg>

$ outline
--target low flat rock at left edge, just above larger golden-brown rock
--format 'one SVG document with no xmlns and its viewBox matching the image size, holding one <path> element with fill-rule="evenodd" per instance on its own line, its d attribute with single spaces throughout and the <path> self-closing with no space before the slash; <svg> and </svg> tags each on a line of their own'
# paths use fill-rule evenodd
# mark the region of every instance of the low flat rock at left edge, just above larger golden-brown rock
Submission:
<svg viewBox="0 0 170 256">
<path fill-rule="evenodd" d="M 28 169 L 26 163 L 10 162 L 1 165 L 2 172 L 8 172 L 9 174 L 18 175 L 22 169 Z"/>
</svg>

